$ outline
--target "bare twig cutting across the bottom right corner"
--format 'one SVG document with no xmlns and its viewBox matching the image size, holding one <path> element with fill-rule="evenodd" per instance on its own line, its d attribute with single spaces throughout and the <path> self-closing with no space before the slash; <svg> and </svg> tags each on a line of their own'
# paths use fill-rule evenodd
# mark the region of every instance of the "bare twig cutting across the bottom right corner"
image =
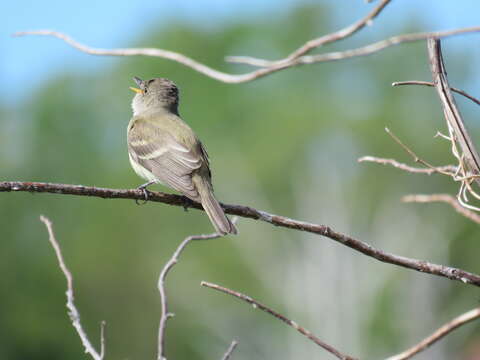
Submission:
<svg viewBox="0 0 480 360">
<path fill-rule="evenodd" d="M 475 309 L 472 309 L 460 316 L 457 316 L 455 319 L 449 321 L 442 327 L 440 327 L 437 331 L 435 331 L 432 335 L 429 337 L 425 338 L 421 342 L 419 342 L 417 345 L 412 346 L 410 349 L 405 350 L 404 352 L 391 356 L 387 360 L 405 360 L 405 359 L 410 359 L 412 356 L 418 354 L 419 352 L 427 349 L 431 345 L 433 345 L 435 342 L 443 338 L 444 336 L 448 335 L 451 333 L 453 330 L 456 328 L 465 325 L 475 319 L 480 318 L 480 307 L 477 307 Z"/>
</svg>

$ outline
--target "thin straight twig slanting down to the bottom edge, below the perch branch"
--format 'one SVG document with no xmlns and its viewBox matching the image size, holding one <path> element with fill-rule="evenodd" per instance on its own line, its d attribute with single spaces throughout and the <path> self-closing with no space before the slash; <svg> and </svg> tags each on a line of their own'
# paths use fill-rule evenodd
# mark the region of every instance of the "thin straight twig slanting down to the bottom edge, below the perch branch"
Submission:
<svg viewBox="0 0 480 360">
<path fill-rule="evenodd" d="M 235 296 L 236 298 L 239 298 L 240 300 L 243 300 L 243 301 L 249 303 L 250 305 L 252 305 L 254 309 L 258 308 L 262 311 L 265 311 L 266 313 L 269 313 L 270 315 L 272 315 L 272 316 L 276 317 L 277 319 L 283 321 L 285 324 L 291 326 L 292 328 L 297 330 L 300 334 L 306 336 L 308 339 L 313 341 L 315 344 L 322 347 L 323 349 L 330 352 L 331 354 L 335 355 L 339 359 L 354 360 L 353 357 L 342 354 L 340 351 L 335 349 L 333 346 L 328 345 L 327 343 L 323 342 L 318 337 L 316 337 L 314 334 L 312 334 L 310 331 L 308 331 L 307 329 L 298 325 L 295 321 L 292 321 L 292 320 L 286 318 L 285 316 L 283 316 L 282 314 L 280 314 L 280 313 L 276 312 L 275 310 L 269 308 L 268 306 L 263 305 L 263 304 L 259 303 L 258 301 L 252 299 L 250 296 L 244 295 L 244 294 L 239 293 L 237 291 L 230 290 L 230 289 L 227 289 L 223 286 L 220 286 L 220 285 L 217 285 L 217 284 L 212 284 L 212 283 L 209 283 L 209 282 L 206 282 L 206 281 L 202 281 L 200 284 L 202 286 L 207 287 L 207 288 L 214 289 L 214 290 L 223 292 L 223 293 L 231 295 L 231 296 Z"/>
</svg>

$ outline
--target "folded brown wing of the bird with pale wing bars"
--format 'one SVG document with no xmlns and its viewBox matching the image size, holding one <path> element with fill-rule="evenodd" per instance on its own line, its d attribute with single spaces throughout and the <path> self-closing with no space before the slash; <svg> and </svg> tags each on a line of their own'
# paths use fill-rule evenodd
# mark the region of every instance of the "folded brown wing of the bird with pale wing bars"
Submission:
<svg viewBox="0 0 480 360">
<path fill-rule="evenodd" d="M 199 194 L 192 182 L 192 172 L 206 161 L 199 149 L 200 142 L 189 148 L 146 119 L 135 119 L 128 131 L 128 151 L 133 160 L 165 185 L 194 200 L 199 200 Z"/>
</svg>

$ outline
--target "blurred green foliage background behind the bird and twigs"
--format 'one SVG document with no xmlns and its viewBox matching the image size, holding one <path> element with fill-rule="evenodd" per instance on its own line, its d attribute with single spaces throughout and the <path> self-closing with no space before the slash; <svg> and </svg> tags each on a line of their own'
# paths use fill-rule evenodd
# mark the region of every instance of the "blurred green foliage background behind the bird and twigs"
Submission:
<svg viewBox="0 0 480 360">
<path fill-rule="evenodd" d="M 312 34 L 331 30 L 328 11 L 302 6 L 280 18 L 210 29 L 177 21 L 147 29 L 131 45 L 158 44 L 216 68 L 243 71 L 248 68 L 225 65 L 223 56 L 280 57 Z M 412 23 L 403 30 L 418 28 Z M 375 32 L 384 35 L 373 27 L 342 47 Z M 448 53 L 448 46 L 445 51 L 452 83 L 461 87 L 478 76 L 464 54 Z M 125 145 L 134 75 L 168 77 L 179 85 L 180 112 L 209 150 L 222 201 L 328 224 L 388 251 L 480 272 L 476 225 L 446 205 L 399 202 L 408 193 L 454 193 L 455 184 L 356 162 L 367 154 L 411 161 L 385 126 L 432 163 L 452 161 L 448 145 L 433 139 L 444 129 L 434 91 L 390 87 L 430 78 L 423 43 L 241 85 L 154 58 L 116 58 L 89 73 L 67 69 L 21 106 L 3 107 L 2 179 L 139 185 Z M 473 118 L 473 106 L 462 99 L 459 104 Z M 3 193 L 1 202 L 0 358 L 82 358 L 64 308 L 65 280 L 40 214 L 54 222 L 91 339 L 97 343 L 99 323 L 106 320 L 107 359 L 154 357 L 159 271 L 185 236 L 212 230 L 205 214 L 26 193 Z M 200 288 L 201 280 L 270 304 L 360 358 L 400 351 L 478 305 L 475 288 L 381 264 L 328 239 L 246 219 L 239 228 L 238 237 L 192 244 L 169 276 L 176 313 L 167 332 L 169 359 L 220 358 L 232 338 L 240 341 L 235 359 L 331 358 L 275 319 Z M 422 356 L 467 358 L 479 346 L 479 329 L 469 325 Z"/>
</svg>

